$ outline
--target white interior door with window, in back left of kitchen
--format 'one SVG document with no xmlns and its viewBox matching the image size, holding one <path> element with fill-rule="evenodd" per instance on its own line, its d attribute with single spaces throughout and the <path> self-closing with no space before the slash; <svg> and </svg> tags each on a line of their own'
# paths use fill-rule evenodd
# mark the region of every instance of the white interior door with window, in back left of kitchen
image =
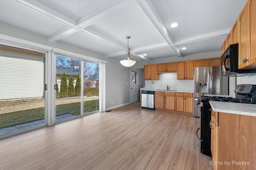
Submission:
<svg viewBox="0 0 256 170">
<path fill-rule="evenodd" d="M 131 103 L 138 102 L 138 70 L 130 70 L 130 81 L 130 101 Z"/>
</svg>

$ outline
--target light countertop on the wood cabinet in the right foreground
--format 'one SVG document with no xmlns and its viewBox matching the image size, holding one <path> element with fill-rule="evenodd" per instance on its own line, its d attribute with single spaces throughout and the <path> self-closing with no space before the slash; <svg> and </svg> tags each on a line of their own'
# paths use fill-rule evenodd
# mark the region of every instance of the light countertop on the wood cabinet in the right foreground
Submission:
<svg viewBox="0 0 256 170">
<path fill-rule="evenodd" d="M 217 112 L 256 116 L 256 104 L 210 101 L 210 105 Z"/>
</svg>

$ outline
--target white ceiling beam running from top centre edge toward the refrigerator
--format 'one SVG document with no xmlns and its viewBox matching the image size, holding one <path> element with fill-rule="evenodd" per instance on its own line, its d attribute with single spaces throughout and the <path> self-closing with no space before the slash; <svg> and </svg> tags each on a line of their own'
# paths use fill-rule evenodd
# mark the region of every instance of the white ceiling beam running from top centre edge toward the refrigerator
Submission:
<svg viewBox="0 0 256 170">
<path fill-rule="evenodd" d="M 178 49 L 178 47 L 176 47 L 176 45 L 174 45 L 174 43 L 173 43 L 174 41 L 172 40 L 172 37 L 168 33 L 164 23 L 160 19 L 160 16 L 157 14 L 156 10 L 154 9 L 154 7 L 150 3 L 150 1 L 138 0 L 138 4 L 140 5 L 140 7 L 144 11 L 144 13 L 148 16 L 149 20 L 152 21 L 154 26 L 158 29 L 158 31 L 164 37 L 164 39 L 169 44 L 169 46 L 172 48 L 174 53 L 176 53 L 178 58 L 182 58 L 182 54 L 180 53 L 180 50 Z"/>
</svg>

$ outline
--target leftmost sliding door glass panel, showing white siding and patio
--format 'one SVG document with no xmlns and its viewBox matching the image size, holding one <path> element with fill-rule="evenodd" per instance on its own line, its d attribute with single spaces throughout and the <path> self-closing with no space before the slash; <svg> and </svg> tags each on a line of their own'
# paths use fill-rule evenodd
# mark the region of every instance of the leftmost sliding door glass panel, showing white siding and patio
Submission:
<svg viewBox="0 0 256 170">
<path fill-rule="evenodd" d="M 0 45 L 0 138 L 45 126 L 46 53 Z"/>
</svg>

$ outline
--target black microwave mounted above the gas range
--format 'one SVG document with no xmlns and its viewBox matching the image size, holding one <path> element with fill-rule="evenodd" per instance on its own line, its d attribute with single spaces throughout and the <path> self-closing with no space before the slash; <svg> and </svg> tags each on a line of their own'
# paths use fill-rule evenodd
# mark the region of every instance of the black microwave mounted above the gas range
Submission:
<svg viewBox="0 0 256 170">
<path fill-rule="evenodd" d="M 230 45 L 221 55 L 222 76 L 251 76 L 256 75 L 256 69 L 238 69 L 238 44 Z"/>
</svg>

